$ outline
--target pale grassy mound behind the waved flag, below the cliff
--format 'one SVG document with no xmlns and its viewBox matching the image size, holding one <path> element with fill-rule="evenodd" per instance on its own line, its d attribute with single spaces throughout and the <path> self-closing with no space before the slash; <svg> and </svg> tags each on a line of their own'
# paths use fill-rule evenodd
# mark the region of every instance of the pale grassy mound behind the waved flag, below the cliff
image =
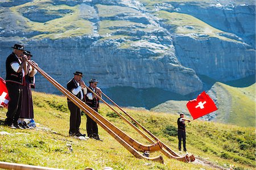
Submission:
<svg viewBox="0 0 256 170">
<path fill-rule="evenodd" d="M 214 121 L 239 126 L 255 126 L 255 83 L 248 87 L 232 87 L 224 83 L 214 83 L 209 90 L 216 95 L 216 118 Z M 170 100 L 151 111 L 188 113 L 187 100 Z"/>
</svg>

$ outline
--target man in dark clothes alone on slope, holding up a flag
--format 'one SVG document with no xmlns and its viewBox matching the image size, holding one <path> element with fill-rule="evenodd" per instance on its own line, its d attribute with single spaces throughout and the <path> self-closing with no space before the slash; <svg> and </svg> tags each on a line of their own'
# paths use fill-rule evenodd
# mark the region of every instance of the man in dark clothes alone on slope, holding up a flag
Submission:
<svg viewBox="0 0 256 170">
<path fill-rule="evenodd" d="M 187 118 L 184 118 L 184 113 L 180 113 L 180 117 L 177 119 L 178 126 L 178 139 L 179 139 L 179 151 L 181 152 L 181 139 L 183 141 L 183 150 L 187 152 L 186 148 L 186 131 L 185 131 L 185 121 L 190 122 Z"/>
</svg>

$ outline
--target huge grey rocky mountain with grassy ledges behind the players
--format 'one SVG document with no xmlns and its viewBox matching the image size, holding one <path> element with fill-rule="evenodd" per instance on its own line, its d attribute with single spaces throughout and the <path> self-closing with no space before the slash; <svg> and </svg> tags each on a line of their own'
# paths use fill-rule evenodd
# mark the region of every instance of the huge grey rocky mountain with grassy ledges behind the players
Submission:
<svg viewBox="0 0 256 170">
<path fill-rule="evenodd" d="M 204 88 L 198 75 L 227 81 L 255 74 L 255 6 L 246 1 L 232 5 L 4 1 L 0 75 L 5 77 L 10 46 L 19 42 L 64 86 L 79 70 L 85 81 L 97 78 L 103 88 L 156 87 L 192 94 Z M 254 23 L 246 22 L 253 18 Z M 40 91 L 55 92 L 40 75 L 37 84 Z"/>
</svg>

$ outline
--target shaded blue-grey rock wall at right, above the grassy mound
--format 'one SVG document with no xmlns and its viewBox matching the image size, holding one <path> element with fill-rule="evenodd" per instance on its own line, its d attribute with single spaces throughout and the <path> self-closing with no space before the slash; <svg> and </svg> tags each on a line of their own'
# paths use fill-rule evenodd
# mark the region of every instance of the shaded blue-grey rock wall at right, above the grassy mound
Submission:
<svg viewBox="0 0 256 170">
<path fill-rule="evenodd" d="M 174 44 L 181 64 L 197 74 L 227 81 L 255 73 L 255 50 L 245 43 L 175 36 Z"/>
</svg>

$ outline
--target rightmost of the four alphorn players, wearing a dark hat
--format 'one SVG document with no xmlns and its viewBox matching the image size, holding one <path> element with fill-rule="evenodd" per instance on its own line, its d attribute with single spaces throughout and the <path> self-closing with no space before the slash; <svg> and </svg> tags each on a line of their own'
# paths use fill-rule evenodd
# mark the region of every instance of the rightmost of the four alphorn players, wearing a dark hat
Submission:
<svg viewBox="0 0 256 170">
<path fill-rule="evenodd" d="M 90 84 L 89 88 L 101 97 L 101 89 L 97 87 L 98 81 L 92 78 L 90 79 L 89 84 Z M 89 107 L 94 109 L 94 111 L 98 112 L 98 108 L 100 107 L 99 99 L 97 96 L 93 95 L 92 92 L 90 92 L 89 90 L 85 95 L 85 101 L 86 101 L 86 104 L 89 105 Z M 90 118 L 89 116 L 86 115 L 86 117 L 87 117 L 86 130 L 87 130 L 88 137 L 102 141 L 98 136 L 98 126 L 96 122 L 94 122 L 92 118 Z"/>
</svg>

